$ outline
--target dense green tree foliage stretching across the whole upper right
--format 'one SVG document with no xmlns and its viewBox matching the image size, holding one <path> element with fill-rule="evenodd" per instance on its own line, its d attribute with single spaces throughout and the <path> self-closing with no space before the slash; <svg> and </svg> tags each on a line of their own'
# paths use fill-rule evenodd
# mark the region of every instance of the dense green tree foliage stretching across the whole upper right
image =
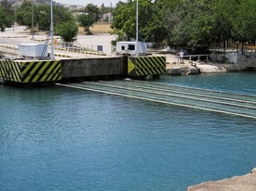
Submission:
<svg viewBox="0 0 256 191">
<path fill-rule="evenodd" d="M 119 2 L 113 29 L 135 38 L 135 4 Z M 139 31 L 144 41 L 172 46 L 208 47 L 233 39 L 256 39 L 255 0 L 140 0 Z"/>
</svg>

